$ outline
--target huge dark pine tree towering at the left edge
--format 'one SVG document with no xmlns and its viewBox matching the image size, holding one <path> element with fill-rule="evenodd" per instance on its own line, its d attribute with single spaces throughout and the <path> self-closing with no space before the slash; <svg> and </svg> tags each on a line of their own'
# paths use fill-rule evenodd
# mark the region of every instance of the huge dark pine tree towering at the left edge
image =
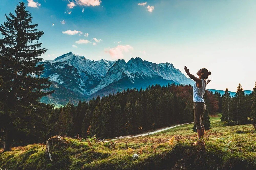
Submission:
<svg viewBox="0 0 256 170">
<path fill-rule="evenodd" d="M 31 128 L 20 127 L 20 122 L 34 108 L 45 107 L 39 103 L 39 99 L 51 93 L 42 91 L 49 88 L 51 83 L 48 78 L 40 77 L 44 67 L 37 65 L 42 61 L 39 56 L 46 52 L 45 48 L 41 48 L 42 43 L 38 43 L 44 33 L 36 29 L 37 24 L 31 24 L 32 17 L 25 10 L 25 4 L 20 2 L 15 15 L 9 13 L 9 17 L 5 15 L 5 18 L 4 25 L 0 27 L 0 77 L 4 84 L 0 91 L 4 114 L 0 119 L 5 121 L 0 126 L 5 132 L 4 151 L 10 151 L 18 129 Z"/>
</svg>

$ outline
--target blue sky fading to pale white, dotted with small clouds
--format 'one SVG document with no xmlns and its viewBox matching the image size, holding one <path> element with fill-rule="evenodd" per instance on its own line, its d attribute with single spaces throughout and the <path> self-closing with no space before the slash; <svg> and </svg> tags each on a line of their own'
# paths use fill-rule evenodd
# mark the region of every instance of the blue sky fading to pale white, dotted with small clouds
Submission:
<svg viewBox="0 0 256 170">
<path fill-rule="evenodd" d="M 0 23 L 18 0 L 0 1 Z M 207 88 L 252 90 L 256 81 L 256 1 L 23 0 L 53 60 L 72 51 L 91 60 L 169 62 Z M 185 73 L 186 75 L 186 73 Z M 187 76 L 187 75 L 186 75 Z M 188 76 L 187 76 L 188 77 Z"/>
</svg>

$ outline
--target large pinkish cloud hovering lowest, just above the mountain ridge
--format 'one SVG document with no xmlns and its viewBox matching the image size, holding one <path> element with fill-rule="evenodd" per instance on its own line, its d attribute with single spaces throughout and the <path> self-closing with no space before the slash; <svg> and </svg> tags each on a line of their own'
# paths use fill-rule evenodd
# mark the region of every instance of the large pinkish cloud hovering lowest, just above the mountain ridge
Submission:
<svg viewBox="0 0 256 170">
<path fill-rule="evenodd" d="M 123 58 L 123 53 L 127 53 L 130 50 L 133 50 L 133 47 L 131 47 L 130 45 L 118 45 L 114 48 L 106 50 L 106 53 L 109 53 L 112 58 Z"/>
</svg>

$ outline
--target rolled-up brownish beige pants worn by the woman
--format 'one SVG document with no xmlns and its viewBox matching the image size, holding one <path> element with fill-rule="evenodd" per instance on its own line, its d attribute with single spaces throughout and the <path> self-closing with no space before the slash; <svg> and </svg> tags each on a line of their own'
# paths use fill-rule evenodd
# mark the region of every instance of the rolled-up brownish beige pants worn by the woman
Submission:
<svg viewBox="0 0 256 170">
<path fill-rule="evenodd" d="M 194 102 L 194 124 L 196 129 L 204 129 L 203 125 L 203 114 L 206 109 L 205 103 Z"/>
</svg>

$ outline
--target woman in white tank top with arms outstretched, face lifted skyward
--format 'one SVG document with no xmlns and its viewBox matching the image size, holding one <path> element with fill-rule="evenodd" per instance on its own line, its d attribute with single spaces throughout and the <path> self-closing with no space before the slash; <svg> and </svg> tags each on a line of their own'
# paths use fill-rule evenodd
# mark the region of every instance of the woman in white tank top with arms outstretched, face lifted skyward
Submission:
<svg viewBox="0 0 256 170">
<path fill-rule="evenodd" d="M 194 124 L 196 126 L 197 134 L 198 134 L 198 140 L 194 145 L 197 145 L 200 143 L 204 138 L 204 132 L 205 128 L 202 123 L 203 121 L 203 114 L 206 109 L 205 101 L 204 101 L 204 94 L 206 85 L 211 81 L 208 80 L 208 76 L 211 75 L 211 72 L 209 72 L 206 68 L 202 68 L 198 70 L 196 73 L 199 78 L 195 77 L 194 75 L 189 73 L 189 69 L 187 67 L 184 67 L 185 72 L 187 75 L 193 79 L 196 83 L 193 85 L 193 102 L 194 102 Z"/>
</svg>

